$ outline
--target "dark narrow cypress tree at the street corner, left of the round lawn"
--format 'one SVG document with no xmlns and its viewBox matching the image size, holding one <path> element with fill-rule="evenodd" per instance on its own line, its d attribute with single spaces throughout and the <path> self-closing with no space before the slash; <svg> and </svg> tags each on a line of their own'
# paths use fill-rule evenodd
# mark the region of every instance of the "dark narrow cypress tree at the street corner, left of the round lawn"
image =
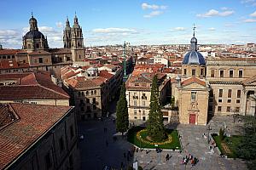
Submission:
<svg viewBox="0 0 256 170">
<path fill-rule="evenodd" d="M 116 108 L 116 129 L 118 132 L 125 133 L 129 126 L 128 108 L 125 95 L 125 82 L 122 84 L 120 90 L 119 101 Z"/>
</svg>

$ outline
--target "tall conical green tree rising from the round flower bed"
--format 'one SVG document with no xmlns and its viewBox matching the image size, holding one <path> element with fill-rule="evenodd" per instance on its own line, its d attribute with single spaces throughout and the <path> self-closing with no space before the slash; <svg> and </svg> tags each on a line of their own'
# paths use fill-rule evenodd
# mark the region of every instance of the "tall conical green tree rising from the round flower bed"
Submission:
<svg viewBox="0 0 256 170">
<path fill-rule="evenodd" d="M 160 111 L 159 87 L 157 84 L 157 76 L 154 75 L 151 96 L 150 96 L 150 111 L 148 114 L 147 131 L 148 136 L 160 142 L 166 139 L 165 127 L 163 123 L 163 114 Z"/>
</svg>

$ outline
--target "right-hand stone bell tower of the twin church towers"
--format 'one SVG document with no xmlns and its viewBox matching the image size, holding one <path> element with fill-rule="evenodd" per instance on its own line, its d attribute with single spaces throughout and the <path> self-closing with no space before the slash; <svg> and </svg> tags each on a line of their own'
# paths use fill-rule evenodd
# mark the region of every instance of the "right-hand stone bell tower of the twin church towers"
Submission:
<svg viewBox="0 0 256 170">
<path fill-rule="evenodd" d="M 76 14 L 73 19 L 71 37 L 71 53 L 73 61 L 80 61 L 85 59 L 83 31 L 79 26 L 79 20 Z"/>
</svg>

